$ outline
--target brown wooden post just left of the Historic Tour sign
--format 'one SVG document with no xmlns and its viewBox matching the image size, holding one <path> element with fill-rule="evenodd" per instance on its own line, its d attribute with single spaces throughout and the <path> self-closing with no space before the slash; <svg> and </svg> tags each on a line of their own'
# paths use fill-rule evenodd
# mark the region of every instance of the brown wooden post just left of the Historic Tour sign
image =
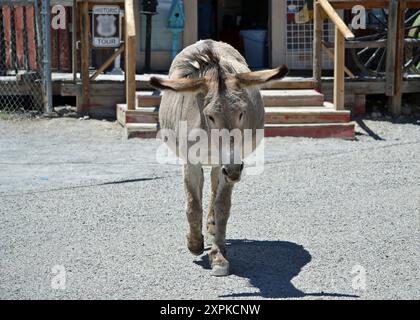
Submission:
<svg viewBox="0 0 420 320">
<path fill-rule="evenodd" d="M 90 55 L 90 19 L 89 3 L 80 3 L 80 32 L 81 32 L 81 75 L 82 75 L 82 106 L 80 113 L 89 112 L 89 55 Z"/>
</svg>

